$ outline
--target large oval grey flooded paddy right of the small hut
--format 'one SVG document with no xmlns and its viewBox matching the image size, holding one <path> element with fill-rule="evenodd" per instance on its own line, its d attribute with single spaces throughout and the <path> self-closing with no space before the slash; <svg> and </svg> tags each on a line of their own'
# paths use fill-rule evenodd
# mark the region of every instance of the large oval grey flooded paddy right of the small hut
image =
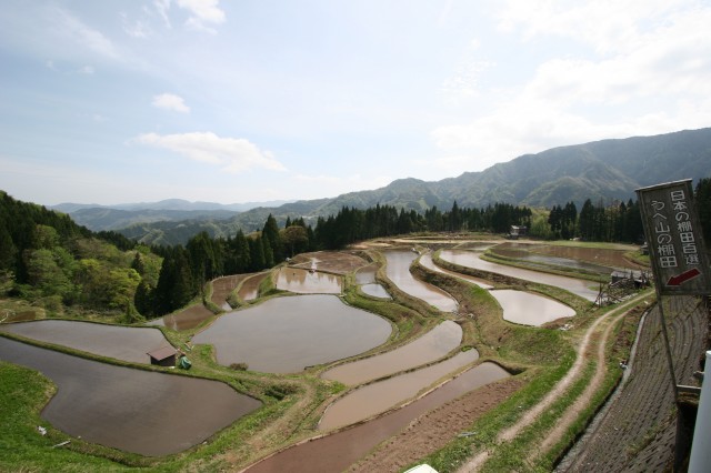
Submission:
<svg viewBox="0 0 711 473">
<path fill-rule="evenodd" d="M 220 316 L 193 343 L 214 345 L 222 365 L 294 373 L 371 350 L 392 329 L 384 319 L 346 305 L 336 295 L 276 298 Z"/>
</svg>

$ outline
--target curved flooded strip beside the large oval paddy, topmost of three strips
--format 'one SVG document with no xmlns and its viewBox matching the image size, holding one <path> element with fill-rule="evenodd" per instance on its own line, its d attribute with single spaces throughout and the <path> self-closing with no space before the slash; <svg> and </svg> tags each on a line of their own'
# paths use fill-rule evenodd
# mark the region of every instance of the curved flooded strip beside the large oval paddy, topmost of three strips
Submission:
<svg viewBox="0 0 711 473">
<path fill-rule="evenodd" d="M 462 329 L 444 321 L 419 339 L 390 352 L 346 363 L 326 371 L 321 378 L 354 385 L 419 366 L 444 356 L 462 340 Z"/>
</svg>

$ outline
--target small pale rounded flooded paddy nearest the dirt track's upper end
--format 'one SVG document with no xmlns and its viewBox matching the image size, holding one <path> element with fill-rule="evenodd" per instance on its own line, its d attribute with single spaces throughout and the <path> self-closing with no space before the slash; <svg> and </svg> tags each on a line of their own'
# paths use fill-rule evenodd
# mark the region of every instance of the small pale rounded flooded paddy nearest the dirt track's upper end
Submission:
<svg viewBox="0 0 711 473">
<path fill-rule="evenodd" d="M 573 316 L 575 311 L 552 299 L 510 289 L 491 291 L 501 309 L 503 319 L 522 325 L 539 326 L 557 319 Z"/>
</svg>

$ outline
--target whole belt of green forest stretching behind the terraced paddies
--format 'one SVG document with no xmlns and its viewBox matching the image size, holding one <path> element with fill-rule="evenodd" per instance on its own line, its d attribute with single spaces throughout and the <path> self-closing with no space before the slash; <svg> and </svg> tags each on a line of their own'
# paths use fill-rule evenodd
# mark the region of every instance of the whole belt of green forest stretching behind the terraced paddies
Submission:
<svg viewBox="0 0 711 473">
<path fill-rule="evenodd" d="M 699 181 L 695 201 L 709 242 L 711 179 Z M 391 205 L 344 207 L 319 218 L 314 228 L 300 218 L 288 219 L 280 229 L 269 215 L 261 232 L 250 235 L 240 230 L 214 239 L 201 232 L 184 246 L 148 248 L 116 232 L 92 233 L 66 214 L 0 191 L 0 292 L 41 300 L 50 308 L 123 311 L 133 321 L 184 306 L 217 276 L 261 271 L 298 253 L 421 231 L 505 233 L 511 225 L 528 227 L 532 236 L 543 239 L 643 239 L 639 204 L 632 200 L 607 207 L 587 200 L 580 212 L 569 202 L 535 215 L 508 203 L 467 209 L 454 202 L 449 211 L 434 207 L 422 214 Z"/>
</svg>

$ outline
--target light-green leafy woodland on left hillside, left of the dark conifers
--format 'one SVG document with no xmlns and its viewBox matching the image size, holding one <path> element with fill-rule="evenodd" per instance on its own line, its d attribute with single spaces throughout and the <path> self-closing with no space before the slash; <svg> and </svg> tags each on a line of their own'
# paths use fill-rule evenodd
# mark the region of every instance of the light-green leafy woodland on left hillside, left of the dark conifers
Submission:
<svg viewBox="0 0 711 473">
<path fill-rule="evenodd" d="M 131 313 L 141 276 L 130 266 L 132 252 L 114 243 L 130 249 L 136 243 L 118 233 L 103 236 L 66 214 L 0 192 L 0 289 L 52 310 L 81 305 Z M 157 279 L 157 256 L 149 260 L 147 278 L 150 272 Z"/>
</svg>

